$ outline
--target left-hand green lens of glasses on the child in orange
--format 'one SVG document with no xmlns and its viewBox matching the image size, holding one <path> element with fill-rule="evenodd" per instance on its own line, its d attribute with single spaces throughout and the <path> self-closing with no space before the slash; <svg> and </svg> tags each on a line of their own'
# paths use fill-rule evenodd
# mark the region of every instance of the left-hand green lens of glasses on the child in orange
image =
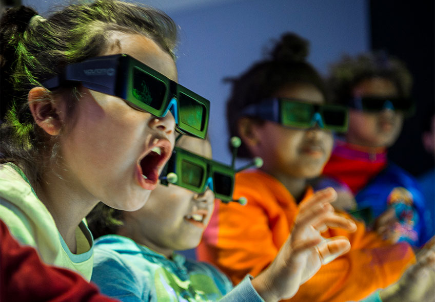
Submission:
<svg viewBox="0 0 435 302">
<path fill-rule="evenodd" d="M 281 102 L 281 122 L 285 126 L 310 127 L 313 106 L 293 101 Z"/>
</svg>

